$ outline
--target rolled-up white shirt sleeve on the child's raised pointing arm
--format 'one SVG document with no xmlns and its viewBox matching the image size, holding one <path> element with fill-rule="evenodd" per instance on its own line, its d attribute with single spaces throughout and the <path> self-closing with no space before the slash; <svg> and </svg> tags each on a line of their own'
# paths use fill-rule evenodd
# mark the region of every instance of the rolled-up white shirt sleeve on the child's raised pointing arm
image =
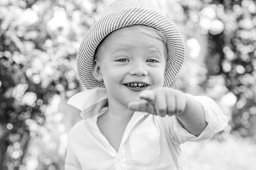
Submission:
<svg viewBox="0 0 256 170">
<path fill-rule="evenodd" d="M 207 96 L 193 96 L 193 98 L 201 103 L 207 122 L 207 126 L 199 136 L 195 136 L 184 129 L 175 116 L 160 118 L 166 135 L 176 144 L 208 139 L 216 133 L 223 131 L 227 126 L 227 116 L 221 111 L 216 102 Z"/>
</svg>

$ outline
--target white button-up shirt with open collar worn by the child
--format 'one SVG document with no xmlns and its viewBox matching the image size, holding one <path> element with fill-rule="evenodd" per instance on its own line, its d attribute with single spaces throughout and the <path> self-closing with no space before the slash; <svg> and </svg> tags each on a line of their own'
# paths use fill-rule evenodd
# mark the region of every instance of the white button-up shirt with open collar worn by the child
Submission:
<svg viewBox="0 0 256 170">
<path fill-rule="evenodd" d="M 107 109 L 106 89 L 72 96 L 68 104 L 81 110 L 83 120 L 70 130 L 65 170 L 182 170 L 180 144 L 207 139 L 227 126 L 227 117 L 211 98 L 193 98 L 202 104 L 208 124 L 198 137 L 175 116 L 135 111 L 116 152 L 97 126 L 97 118 Z"/>
</svg>

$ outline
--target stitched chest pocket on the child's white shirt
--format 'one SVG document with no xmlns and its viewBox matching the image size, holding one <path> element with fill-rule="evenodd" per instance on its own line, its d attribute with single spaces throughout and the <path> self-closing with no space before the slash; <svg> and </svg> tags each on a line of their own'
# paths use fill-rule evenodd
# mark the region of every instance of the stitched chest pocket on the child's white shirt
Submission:
<svg viewBox="0 0 256 170">
<path fill-rule="evenodd" d="M 155 126 L 135 129 L 129 135 L 132 159 L 149 164 L 160 155 L 159 135 Z"/>
</svg>

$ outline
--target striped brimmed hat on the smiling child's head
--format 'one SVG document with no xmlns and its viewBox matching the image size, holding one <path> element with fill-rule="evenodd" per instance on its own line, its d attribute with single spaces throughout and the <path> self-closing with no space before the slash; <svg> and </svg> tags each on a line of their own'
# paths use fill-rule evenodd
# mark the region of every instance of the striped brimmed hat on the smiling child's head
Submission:
<svg viewBox="0 0 256 170">
<path fill-rule="evenodd" d="M 77 72 L 85 88 L 104 85 L 92 75 L 94 53 L 101 40 L 112 31 L 136 24 L 151 26 L 166 37 L 168 58 L 164 87 L 173 82 L 185 57 L 184 42 L 176 26 L 148 0 L 114 0 L 103 9 L 100 19 L 85 34 L 79 47 Z"/>
</svg>

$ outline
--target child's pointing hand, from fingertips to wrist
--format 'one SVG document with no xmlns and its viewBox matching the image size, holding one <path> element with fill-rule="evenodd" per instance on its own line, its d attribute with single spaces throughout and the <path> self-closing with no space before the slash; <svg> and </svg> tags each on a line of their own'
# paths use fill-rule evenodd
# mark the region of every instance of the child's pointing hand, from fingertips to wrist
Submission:
<svg viewBox="0 0 256 170">
<path fill-rule="evenodd" d="M 169 87 L 145 90 L 139 94 L 140 100 L 128 104 L 133 111 L 145 111 L 150 114 L 179 116 L 186 108 L 186 94 Z"/>
</svg>

